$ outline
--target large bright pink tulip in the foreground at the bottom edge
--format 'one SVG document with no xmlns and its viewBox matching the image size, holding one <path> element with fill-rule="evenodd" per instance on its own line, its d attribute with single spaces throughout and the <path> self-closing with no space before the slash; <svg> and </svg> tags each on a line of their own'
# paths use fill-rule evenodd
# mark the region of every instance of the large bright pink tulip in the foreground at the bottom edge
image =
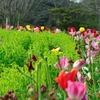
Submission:
<svg viewBox="0 0 100 100">
<path fill-rule="evenodd" d="M 68 88 L 66 89 L 66 92 L 71 100 L 82 100 L 85 95 L 86 88 L 87 87 L 80 82 L 68 81 Z"/>
</svg>

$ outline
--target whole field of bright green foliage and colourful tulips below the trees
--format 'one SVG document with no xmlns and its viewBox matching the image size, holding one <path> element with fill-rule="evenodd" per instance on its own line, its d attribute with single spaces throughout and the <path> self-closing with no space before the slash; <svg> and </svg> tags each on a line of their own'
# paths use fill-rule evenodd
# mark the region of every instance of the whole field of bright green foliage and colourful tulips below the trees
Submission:
<svg viewBox="0 0 100 100">
<path fill-rule="evenodd" d="M 100 35 L 2 25 L 0 100 L 99 100 Z"/>
</svg>

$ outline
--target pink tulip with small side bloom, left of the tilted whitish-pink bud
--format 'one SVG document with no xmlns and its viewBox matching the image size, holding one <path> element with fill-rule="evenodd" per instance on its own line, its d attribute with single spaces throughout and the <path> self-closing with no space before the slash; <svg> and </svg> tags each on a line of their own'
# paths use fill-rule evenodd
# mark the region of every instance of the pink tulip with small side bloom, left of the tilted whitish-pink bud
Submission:
<svg viewBox="0 0 100 100">
<path fill-rule="evenodd" d="M 60 58 L 60 65 L 59 65 L 59 62 L 56 62 L 56 64 L 54 66 L 56 68 L 61 67 L 62 69 L 66 69 L 67 67 L 70 66 L 70 63 L 66 57 L 62 57 L 62 58 Z"/>
</svg>

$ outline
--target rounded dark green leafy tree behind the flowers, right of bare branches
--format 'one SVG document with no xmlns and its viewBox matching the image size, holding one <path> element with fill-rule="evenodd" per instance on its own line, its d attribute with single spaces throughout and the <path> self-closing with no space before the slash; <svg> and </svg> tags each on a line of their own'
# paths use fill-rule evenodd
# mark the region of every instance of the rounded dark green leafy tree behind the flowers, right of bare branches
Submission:
<svg viewBox="0 0 100 100">
<path fill-rule="evenodd" d="M 70 26 L 77 29 L 81 26 L 97 29 L 97 15 L 85 8 L 70 6 L 67 8 L 54 8 L 50 12 L 52 13 L 56 26 L 61 29 L 66 29 Z"/>
</svg>

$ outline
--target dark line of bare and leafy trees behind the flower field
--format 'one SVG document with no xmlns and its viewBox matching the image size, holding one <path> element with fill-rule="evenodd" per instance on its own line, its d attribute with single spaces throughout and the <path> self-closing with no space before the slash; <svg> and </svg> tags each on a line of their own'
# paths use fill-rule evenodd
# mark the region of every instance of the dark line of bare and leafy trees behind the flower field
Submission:
<svg viewBox="0 0 100 100">
<path fill-rule="evenodd" d="M 77 0 L 76 0 L 77 1 Z M 0 24 L 100 30 L 100 0 L 0 0 Z"/>
</svg>

